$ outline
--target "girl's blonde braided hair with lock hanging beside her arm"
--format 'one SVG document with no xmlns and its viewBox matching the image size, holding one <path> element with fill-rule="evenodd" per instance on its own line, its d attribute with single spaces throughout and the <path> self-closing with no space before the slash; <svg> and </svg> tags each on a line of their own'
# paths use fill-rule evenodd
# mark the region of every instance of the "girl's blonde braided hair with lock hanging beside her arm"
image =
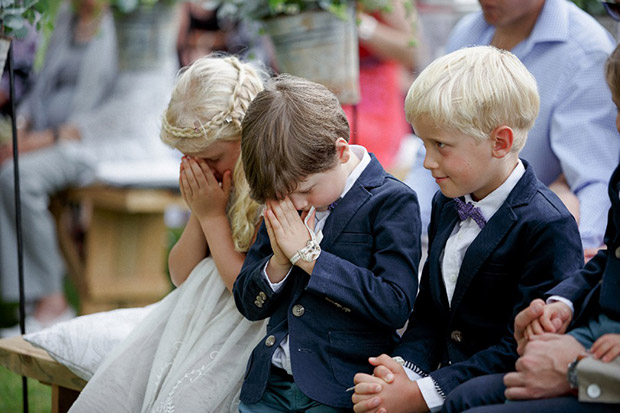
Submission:
<svg viewBox="0 0 620 413">
<path fill-rule="evenodd" d="M 263 89 L 266 74 L 234 56 L 209 55 L 179 71 L 168 109 L 163 115 L 161 140 L 187 155 L 218 141 L 241 139 L 241 122 L 252 99 Z M 235 249 L 250 248 L 259 205 L 249 196 L 241 157 L 235 164 L 233 192 L 228 204 Z"/>
</svg>

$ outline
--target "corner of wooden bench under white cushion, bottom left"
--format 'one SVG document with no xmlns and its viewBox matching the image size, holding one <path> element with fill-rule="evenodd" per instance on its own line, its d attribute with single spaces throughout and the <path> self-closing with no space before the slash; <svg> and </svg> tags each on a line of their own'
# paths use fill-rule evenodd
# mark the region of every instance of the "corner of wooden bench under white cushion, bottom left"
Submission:
<svg viewBox="0 0 620 413">
<path fill-rule="evenodd" d="M 52 386 L 52 413 L 69 410 L 86 381 L 21 336 L 0 339 L 0 365 Z"/>
</svg>

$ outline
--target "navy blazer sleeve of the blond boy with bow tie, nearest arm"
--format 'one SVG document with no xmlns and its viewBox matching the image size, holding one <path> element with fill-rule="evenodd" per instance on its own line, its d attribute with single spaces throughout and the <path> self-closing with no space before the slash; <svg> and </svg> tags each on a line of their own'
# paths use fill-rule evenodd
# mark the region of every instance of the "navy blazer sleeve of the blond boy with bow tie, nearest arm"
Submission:
<svg viewBox="0 0 620 413">
<path fill-rule="evenodd" d="M 517 359 L 513 328 L 515 315 L 583 265 L 579 231 L 569 214 L 539 222 L 526 232 L 529 237 L 521 243 L 525 264 L 505 334 L 497 344 L 475 353 L 467 360 L 431 373 L 445 394 L 473 377 L 512 370 Z"/>
</svg>

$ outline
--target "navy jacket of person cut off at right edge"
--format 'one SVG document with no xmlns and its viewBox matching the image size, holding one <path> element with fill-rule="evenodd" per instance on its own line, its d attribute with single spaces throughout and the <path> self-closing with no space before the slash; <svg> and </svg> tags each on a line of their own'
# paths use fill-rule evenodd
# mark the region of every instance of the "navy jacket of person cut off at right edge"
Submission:
<svg viewBox="0 0 620 413">
<path fill-rule="evenodd" d="M 605 230 L 607 249 L 600 250 L 586 266 L 549 291 L 572 301 L 573 326 L 601 312 L 620 321 L 620 165 L 609 181 L 611 208 Z"/>
</svg>

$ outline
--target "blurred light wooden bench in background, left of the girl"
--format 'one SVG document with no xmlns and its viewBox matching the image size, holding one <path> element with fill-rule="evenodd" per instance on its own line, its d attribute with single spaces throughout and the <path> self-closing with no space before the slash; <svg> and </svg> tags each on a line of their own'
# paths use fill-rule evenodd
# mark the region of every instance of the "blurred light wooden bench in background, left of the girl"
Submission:
<svg viewBox="0 0 620 413">
<path fill-rule="evenodd" d="M 71 202 L 91 211 L 81 249 L 63 224 L 62 206 Z M 51 209 L 80 314 L 142 307 L 170 291 L 164 212 L 171 205 L 185 206 L 168 189 L 91 186 L 56 197 Z"/>
</svg>

